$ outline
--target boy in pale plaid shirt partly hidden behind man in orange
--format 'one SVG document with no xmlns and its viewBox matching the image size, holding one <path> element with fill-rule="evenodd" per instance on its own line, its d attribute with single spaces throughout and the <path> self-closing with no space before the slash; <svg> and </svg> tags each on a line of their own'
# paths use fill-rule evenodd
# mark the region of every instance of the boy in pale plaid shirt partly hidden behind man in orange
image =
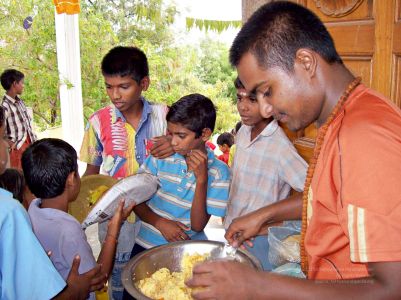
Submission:
<svg viewBox="0 0 401 300">
<path fill-rule="evenodd" d="M 291 188 L 301 192 L 307 164 L 288 139 L 278 122 L 263 117 L 256 98 L 249 95 L 239 78 L 237 109 L 242 126 L 236 135 L 236 152 L 231 166 L 231 189 L 224 227 L 236 218 L 289 196 Z M 267 231 L 261 232 L 247 250 L 270 271 Z"/>
</svg>

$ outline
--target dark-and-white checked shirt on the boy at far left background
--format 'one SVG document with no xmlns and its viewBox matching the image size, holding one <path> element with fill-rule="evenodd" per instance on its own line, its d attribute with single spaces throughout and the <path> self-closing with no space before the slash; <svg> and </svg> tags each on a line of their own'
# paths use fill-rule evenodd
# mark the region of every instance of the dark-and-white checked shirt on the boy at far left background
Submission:
<svg viewBox="0 0 401 300">
<path fill-rule="evenodd" d="M 17 150 L 21 148 L 28 136 L 32 143 L 37 140 L 31 125 L 32 118 L 22 99 L 18 96 L 13 99 L 6 94 L 1 106 L 5 112 L 7 138 L 15 143 Z"/>
</svg>

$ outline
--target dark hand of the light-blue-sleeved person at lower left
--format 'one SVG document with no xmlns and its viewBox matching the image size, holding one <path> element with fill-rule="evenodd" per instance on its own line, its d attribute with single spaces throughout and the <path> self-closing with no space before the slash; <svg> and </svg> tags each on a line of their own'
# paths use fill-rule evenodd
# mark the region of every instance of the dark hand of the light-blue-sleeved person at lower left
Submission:
<svg viewBox="0 0 401 300">
<path fill-rule="evenodd" d="M 90 292 L 100 290 L 104 287 L 107 277 L 101 273 L 100 265 L 86 273 L 79 274 L 78 268 L 81 263 L 79 256 L 74 257 L 71 270 L 67 277 L 67 287 L 56 299 L 87 299 Z"/>
</svg>

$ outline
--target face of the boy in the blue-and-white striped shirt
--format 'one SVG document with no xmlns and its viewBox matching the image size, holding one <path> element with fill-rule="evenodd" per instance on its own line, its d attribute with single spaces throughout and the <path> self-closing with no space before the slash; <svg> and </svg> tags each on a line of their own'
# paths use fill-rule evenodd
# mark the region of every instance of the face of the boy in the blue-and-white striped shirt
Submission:
<svg viewBox="0 0 401 300">
<path fill-rule="evenodd" d="M 183 156 L 191 150 L 205 148 L 205 142 L 202 136 L 195 138 L 195 132 L 185 128 L 180 123 L 167 122 L 167 130 L 171 135 L 171 145 L 174 152 Z"/>
</svg>

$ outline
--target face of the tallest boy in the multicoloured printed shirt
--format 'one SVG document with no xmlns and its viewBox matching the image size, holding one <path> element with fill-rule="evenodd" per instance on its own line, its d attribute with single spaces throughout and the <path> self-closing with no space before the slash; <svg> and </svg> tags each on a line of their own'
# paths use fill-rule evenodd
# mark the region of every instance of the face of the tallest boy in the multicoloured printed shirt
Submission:
<svg viewBox="0 0 401 300">
<path fill-rule="evenodd" d="M 135 103 L 140 101 L 142 91 L 149 85 L 147 77 L 138 84 L 130 76 L 104 76 L 107 95 L 111 102 L 122 113 L 129 111 Z"/>
</svg>

